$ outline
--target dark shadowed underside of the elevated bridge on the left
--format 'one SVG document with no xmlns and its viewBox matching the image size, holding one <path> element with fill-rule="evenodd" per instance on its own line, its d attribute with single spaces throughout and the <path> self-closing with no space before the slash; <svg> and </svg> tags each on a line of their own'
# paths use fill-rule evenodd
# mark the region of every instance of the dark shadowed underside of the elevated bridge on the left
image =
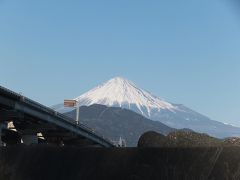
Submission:
<svg viewBox="0 0 240 180">
<path fill-rule="evenodd" d="M 28 114 L 0 107 L 0 145 L 53 144 L 58 146 L 102 147 L 56 124 Z"/>
</svg>

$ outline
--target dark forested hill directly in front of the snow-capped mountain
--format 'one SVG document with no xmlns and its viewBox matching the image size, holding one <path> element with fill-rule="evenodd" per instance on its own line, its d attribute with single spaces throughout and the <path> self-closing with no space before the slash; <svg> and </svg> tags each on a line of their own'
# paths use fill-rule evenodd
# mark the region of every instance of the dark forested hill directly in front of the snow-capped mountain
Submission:
<svg viewBox="0 0 240 180">
<path fill-rule="evenodd" d="M 75 118 L 76 111 L 66 113 Z M 168 134 L 174 131 L 160 122 L 152 121 L 133 111 L 118 107 L 92 105 L 80 107 L 80 122 L 94 129 L 111 140 L 118 141 L 120 137 L 126 140 L 127 146 L 136 146 L 139 137 L 147 131 Z"/>
</svg>

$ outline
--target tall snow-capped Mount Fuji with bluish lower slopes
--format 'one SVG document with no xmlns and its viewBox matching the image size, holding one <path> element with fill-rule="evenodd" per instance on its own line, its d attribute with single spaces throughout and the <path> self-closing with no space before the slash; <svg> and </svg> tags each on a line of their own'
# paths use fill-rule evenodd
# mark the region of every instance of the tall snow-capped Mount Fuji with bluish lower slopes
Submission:
<svg viewBox="0 0 240 180">
<path fill-rule="evenodd" d="M 238 127 L 211 120 L 184 105 L 167 102 L 121 77 L 113 78 L 74 100 L 78 102 L 78 106 L 100 104 L 132 110 L 172 128 L 192 129 L 218 138 L 240 135 Z M 52 108 L 61 113 L 73 110 L 73 108 L 64 107 L 63 104 Z"/>
</svg>

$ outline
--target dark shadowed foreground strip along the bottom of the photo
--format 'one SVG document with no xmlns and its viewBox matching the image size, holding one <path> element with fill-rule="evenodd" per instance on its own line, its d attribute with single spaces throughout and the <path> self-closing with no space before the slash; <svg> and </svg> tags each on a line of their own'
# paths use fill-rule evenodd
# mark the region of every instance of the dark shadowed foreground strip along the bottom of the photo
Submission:
<svg viewBox="0 0 240 180">
<path fill-rule="evenodd" d="M 0 180 L 240 179 L 240 148 L 0 149 Z"/>
</svg>

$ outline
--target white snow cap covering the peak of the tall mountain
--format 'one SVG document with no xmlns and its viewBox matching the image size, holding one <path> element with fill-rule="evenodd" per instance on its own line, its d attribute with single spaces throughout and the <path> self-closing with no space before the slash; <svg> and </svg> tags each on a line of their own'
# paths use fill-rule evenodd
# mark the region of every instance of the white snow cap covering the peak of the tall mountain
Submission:
<svg viewBox="0 0 240 180">
<path fill-rule="evenodd" d="M 102 104 L 131 109 L 135 106 L 145 116 L 150 117 L 152 110 L 168 109 L 174 111 L 177 107 L 149 92 L 138 88 L 134 83 L 121 77 L 113 78 L 106 83 L 75 98 L 79 106 Z M 147 111 L 147 112 L 146 112 Z"/>
</svg>

